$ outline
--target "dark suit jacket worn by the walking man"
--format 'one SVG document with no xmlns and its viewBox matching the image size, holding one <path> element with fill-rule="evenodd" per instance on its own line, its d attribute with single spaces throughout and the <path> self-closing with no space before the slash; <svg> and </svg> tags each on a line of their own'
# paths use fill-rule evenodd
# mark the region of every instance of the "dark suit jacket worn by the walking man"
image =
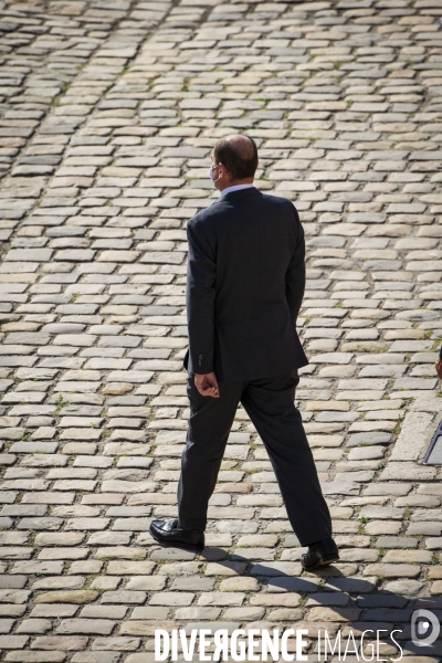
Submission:
<svg viewBox="0 0 442 663">
<path fill-rule="evenodd" d="M 225 382 L 308 364 L 296 333 L 305 243 L 293 203 L 254 187 L 232 191 L 198 212 L 187 235 L 189 372 Z"/>
</svg>

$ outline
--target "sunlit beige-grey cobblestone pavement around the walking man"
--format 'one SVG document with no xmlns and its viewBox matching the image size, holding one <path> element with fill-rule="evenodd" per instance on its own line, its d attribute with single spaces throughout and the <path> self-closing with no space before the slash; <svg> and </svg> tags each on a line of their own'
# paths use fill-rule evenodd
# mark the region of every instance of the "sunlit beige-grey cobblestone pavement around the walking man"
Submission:
<svg viewBox="0 0 442 663">
<path fill-rule="evenodd" d="M 419 462 L 442 409 L 440 0 L 0 12 L 0 660 L 150 663 L 155 628 L 296 624 L 312 654 L 318 629 L 402 629 L 423 661 L 412 609 L 442 610 L 442 486 Z M 307 236 L 297 400 L 341 548 L 320 575 L 242 408 L 204 552 L 147 532 L 176 515 L 187 427 L 186 221 L 231 130 Z"/>
</svg>

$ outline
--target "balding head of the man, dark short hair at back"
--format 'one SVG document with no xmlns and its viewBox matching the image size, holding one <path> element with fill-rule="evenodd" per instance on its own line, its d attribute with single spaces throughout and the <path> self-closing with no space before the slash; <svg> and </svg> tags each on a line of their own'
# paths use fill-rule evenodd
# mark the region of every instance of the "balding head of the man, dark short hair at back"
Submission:
<svg viewBox="0 0 442 663">
<path fill-rule="evenodd" d="M 231 181 L 253 180 L 257 168 L 255 141 L 243 134 L 225 136 L 214 146 L 213 162 L 224 166 Z"/>
</svg>

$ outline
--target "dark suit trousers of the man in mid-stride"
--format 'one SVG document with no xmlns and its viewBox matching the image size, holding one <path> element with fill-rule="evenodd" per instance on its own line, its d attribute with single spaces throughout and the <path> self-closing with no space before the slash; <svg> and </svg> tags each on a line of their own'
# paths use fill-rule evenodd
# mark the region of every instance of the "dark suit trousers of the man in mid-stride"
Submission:
<svg viewBox="0 0 442 663">
<path fill-rule="evenodd" d="M 220 397 L 201 396 L 189 373 L 189 429 L 181 457 L 178 519 L 183 529 L 204 530 L 236 408 L 241 402 L 269 453 L 288 519 L 302 546 L 332 536 L 332 520 L 296 409 L 296 371 L 274 378 L 219 382 Z"/>
</svg>

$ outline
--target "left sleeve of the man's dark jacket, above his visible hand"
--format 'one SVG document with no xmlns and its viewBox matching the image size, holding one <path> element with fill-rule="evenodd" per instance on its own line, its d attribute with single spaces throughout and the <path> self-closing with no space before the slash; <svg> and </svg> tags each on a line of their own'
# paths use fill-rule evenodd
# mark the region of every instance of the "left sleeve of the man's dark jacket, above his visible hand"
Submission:
<svg viewBox="0 0 442 663">
<path fill-rule="evenodd" d="M 190 221 L 187 264 L 187 320 L 189 329 L 189 369 L 194 373 L 213 370 L 215 256 L 201 229 Z"/>
</svg>

